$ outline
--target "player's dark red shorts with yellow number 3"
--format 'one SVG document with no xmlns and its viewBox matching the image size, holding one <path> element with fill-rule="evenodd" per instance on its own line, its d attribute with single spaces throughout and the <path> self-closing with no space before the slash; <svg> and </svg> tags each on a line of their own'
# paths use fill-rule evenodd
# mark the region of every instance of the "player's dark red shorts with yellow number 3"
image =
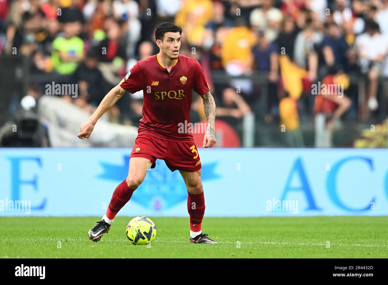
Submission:
<svg viewBox="0 0 388 285">
<path fill-rule="evenodd" d="M 194 140 L 192 142 L 171 142 L 139 133 L 130 157 L 144 157 L 151 160 L 151 168 L 155 168 L 156 159 L 163 159 L 171 171 L 194 172 L 201 169 L 201 160 Z"/>
</svg>

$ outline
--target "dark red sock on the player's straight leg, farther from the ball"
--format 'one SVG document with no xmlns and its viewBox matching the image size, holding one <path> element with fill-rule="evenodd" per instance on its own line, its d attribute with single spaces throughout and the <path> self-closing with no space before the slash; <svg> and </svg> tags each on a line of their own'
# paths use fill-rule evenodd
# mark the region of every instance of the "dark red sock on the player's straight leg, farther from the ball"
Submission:
<svg viewBox="0 0 388 285">
<path fill-rule="evenodd" d="M 202 219 L 205 214 L 205 197 L 203 191 L 199 194 L 191 194 L 187 197 L 187 211 L 190 215 L 190 230 L 201 231 Z"/>
</svg>

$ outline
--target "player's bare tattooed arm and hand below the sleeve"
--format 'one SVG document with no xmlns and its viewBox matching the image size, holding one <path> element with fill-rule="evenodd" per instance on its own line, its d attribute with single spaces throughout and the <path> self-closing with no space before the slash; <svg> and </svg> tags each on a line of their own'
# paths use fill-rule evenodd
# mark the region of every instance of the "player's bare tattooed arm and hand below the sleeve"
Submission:
<svg viewBox="0 0 388 285">
<path fill-rule="evenodd" d="M 203 138 L 202 147 L 212 147 L 216 142 L 216 135 L 214 133 L 215 119 L 216 119 L 216 104 L 213 96 L 210 92 L 201 95 L 203 99 L 203 108 L 205 111 L 206 118 L 208 119 L 208 128 Z"/>
</svg>

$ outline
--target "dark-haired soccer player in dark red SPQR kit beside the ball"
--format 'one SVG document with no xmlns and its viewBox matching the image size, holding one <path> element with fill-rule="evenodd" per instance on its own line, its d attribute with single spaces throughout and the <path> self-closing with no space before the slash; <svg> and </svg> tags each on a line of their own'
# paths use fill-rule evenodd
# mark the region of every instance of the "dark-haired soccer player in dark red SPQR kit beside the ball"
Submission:
<svg viewBox="0 0 388 285">
<path fill-rule="evenodd" d="M 125 78 L 107 93 L 89 120 L 81 125 L 78 137 L 89 138 L 97 120 L 126 91 L 135 93 L 143 90 L 143 117 L 130 155 L 128 176 L 114 190 L 101 221 L 89 230 L 89 238 L 94 242 L 109 231 L 118 211 L 143 182 L 147 169 L 156 166 L 156 159 L 163 159 L 171 171 L 179 170 L 187 187 L 190 242 L 217 244 L 201 230 L 205 200 L 197 147 L 192 134 L 178 128 L 179 123 L 187 126 L 190 122 L 191 89 L 194 88 L 203 98 L 208 119 L 202 147 L 212 147 L 217 142 L 214 133 L 215 102 L 199 62 L 179 54 L 181 34 L 182 29 L 173 23 L 160 24 L 155 32 L 159 54 L 137 62 Z"/>
</svg>

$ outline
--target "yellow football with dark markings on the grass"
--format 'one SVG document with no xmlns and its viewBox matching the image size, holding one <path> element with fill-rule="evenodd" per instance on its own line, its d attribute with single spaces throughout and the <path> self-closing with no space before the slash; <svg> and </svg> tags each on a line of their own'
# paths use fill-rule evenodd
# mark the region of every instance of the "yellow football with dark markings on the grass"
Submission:
<svg viewBox="0 0 388 285">
<path fill-rule="evenodd" d="M 147 217 L 136 217 L 126 226 L 126 237 L 132 244 L 148 244 L 156 237 L 156 225 Z"/>
</svg>

